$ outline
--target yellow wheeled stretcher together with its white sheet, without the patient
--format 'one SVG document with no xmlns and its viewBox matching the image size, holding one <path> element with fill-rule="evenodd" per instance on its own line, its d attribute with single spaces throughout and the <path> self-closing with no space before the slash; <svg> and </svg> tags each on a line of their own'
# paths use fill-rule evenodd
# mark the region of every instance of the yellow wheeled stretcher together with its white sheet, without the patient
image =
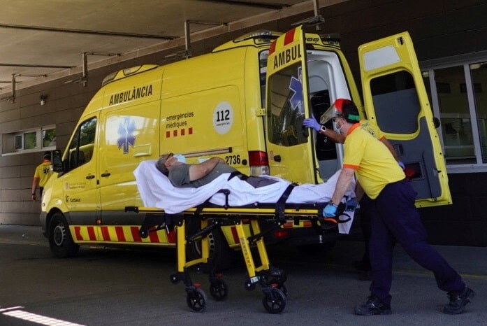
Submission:
<svg viewBox="0 0 487 326">
<path fill-rule="evenodd" d="M 134 171 L 140 195 L 146 207 L 128 206 L 126 211 L 145 214 L 140 236 L 150 236 L 150 232 L 159 229 L 175 228 L 177 241 L 177 271 L 170 276 L 174 284 L 182 281 L 187 292 L 187 305 L 193 311 L 205 310 L 207 297 L 200 285 L 191 281 L 189 267 L 196 267 L 197 271 L 209 273 L 210 294 L 216 300 L 226 299 L 228 285 L 209 263 L 210 249 L 208 235 L 217 227 L 231 226 L 240 242 L 240 249 L 247 267 L 248 278 L 245 281 L 247 290 L 254 290 L 261 285 L 263 291 L 262 303 L 269 313 L 280 313 L 286 306 L 287 290 L 284 282 L 286 274 L 277 267 L 272 267 L 263 241 L 263 236 L 273 232 L 286 222 L 295 223 L 309 220 L 314 224 L 317 232 L 329 232 L 332 228 L 340 228 L 340 232 L 347 232 L 354 218 L 353 211 L 344 212 L 344 203 L 354 196 L 353 191 L 347 191 L 342 199 L 337 213 L 337 222 L 321 222 L 324 206 L 333 194 L 337 175 L 328 181 L 323 196 L 328 199 L 322 202 L 312 202 L 303 198 L 301 202 L 288 202 L 294 185 L 288 183 L 284 192 L 275 194 L 263 188 L 277 187 L 276 183 L 266 187 L 254 189 L 239 178 L 231 178 L 231 173 L 225 173 L 208 185 L 198 188 L 173 187 L 168 178 L 159 172 L 156 161 L 144 161 Z M 228 180 L 228 178 L 230 179 Z M 272 178 L 272 177 L 270 177 Z M 247 184 L 257 194 L 242 190 Z M 306 187 L 306 185 L 304 186 Z M 351 185 L 350 189 L 353 189 Z M 243 187 L 245 188 L 245 186 Z M 259 193 L 260 191 L 260 193 Z M 266 197 L 267 196 L 267 197 Z M 259 202 L 258 198 L 270 199 L 272 202 Z M 293 198 L 293 197 L 291 197 Z M 296 196 L 294 197 L 296 199 Z M 305 202 L 304 202 L 305 201 Z M 241 204 L 234 206 L 234 204 Z M 186 227 L 190 219 L 198 219 L 201 227 L 191 234 Z M 259 220 L 272 222 L 269 229 L 261 229 Z M 249 235 L 250 234 L 250 235 Z M 187 258 L 187 246 L 194 241 L 201 241 L 201 255 L 193 260 Z M 254 259 L 252 247 L 257 248 L 259 257 Z M 256 266 L 256 262 L 260 265 Z"/>
</svg>

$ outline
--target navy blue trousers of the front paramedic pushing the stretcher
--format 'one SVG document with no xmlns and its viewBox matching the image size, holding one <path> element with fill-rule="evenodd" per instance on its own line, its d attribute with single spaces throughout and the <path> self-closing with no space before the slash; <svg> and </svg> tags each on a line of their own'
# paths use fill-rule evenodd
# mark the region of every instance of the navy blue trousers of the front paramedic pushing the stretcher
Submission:
<svg viewBox="0 0 487 326">
<path fill-rule="evenodd" d="M 465 283 L 448 262 L 426 242 L 426 230 L 414 206 L 416 192 L 407 180 L 390 183 L 370 205 L 370 292 L 391 305 L 393 248 L 398 241 L 409 257 L 433 271 L 440 290 L 463 291 Z"/>
</svg>

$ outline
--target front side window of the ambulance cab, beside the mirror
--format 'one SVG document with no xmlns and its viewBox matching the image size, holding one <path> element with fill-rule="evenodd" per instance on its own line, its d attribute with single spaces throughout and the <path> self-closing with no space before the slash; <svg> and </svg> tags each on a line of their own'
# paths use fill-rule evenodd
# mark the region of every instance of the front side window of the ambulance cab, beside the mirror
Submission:
<svg viewBox="0 0 487 326">
<path fill-rule="evenodd" d="M 75 131 L 69 145 L 69 169 L 89 162 L 92 159 L 96 132 L 96 118 L 83 122 Z"/>
</svg>

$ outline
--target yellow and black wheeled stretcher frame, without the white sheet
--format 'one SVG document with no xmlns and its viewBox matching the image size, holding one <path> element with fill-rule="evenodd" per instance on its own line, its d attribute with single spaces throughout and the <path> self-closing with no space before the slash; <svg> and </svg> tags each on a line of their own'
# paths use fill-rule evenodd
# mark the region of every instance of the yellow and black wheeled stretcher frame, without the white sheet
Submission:
<svg viewBox="0 0 487 326">
<path fill-rule="evenodd" d="M 225 193 L 226 190 L 222 190 Z M 228 196 L 228 190 L 226 192 Z M 227 201 L 228 203 L 228 201 Z M 347 222 L 336 218 L 337 222 L 322 222 L 321 216 L 326 203 L 315 204 L 287 204 L 272 203 L 230 207 L 215 206 L 206 201 L 201 206 L 189 208 L 177 214 L 168 214 L 161 208 L 153 207 L 126 207 L 126 211 L 145 213 L 143 225 L 140 227 L 140 236 L 147 237 L 149 232 L 159 229 L 175 228 L 177 246 L 177 271 L 170 275 L 173 284 L 182 281 L 187 292 L 187 305 L 196 312 L 203 312 L 206 308 L 207 297 L 199 284 L 191 281 L 189 267 L 196 267 L 197 272 L 208 271 L 210 281 L 210 294 L 217 301 L 226 299 L 228 285 L 215 269 L 210 266 L 210 246 L 208 235 L 217 227 L 234 226 L 238 234 L 240 249 L 247 267 L 248 278 L 245 281 L 246 290 L 254 290 L 256 285 L 261 285 L 263 292 L 263 306 L 268 313 L 281 313 L 286 306 L 287 289 L 284 285 L 286 274 L 277 267 L 270 265 L 266 245 L 263 236 L 268 232 L 284 225 L 289 220 L 296 224 L 300 220 L 309 220 L 313 225 L 318 225 L 317 232 L 329 232 L 337 228 L 337 222 Z M 344 204 L 337 210 L 337 216 L 347 215 L 343 213 Z M 201 229 L 194 234 L 187 234 L 187 220 L 197 218 L 200 220 Z M 249 220 L 251 236 L 245 234 L 242 220 Z M 266 220 L 272 225 L 270 229 L 261 230 L 259 220 Z M 201 241 L 201 256 L 193 260 L 187 260 L 187 246 L 192 241 Z M 256 266 L 256 260 L 252 255 L 251 247 L 256 246 L 260 265 Z"/>
</svg>

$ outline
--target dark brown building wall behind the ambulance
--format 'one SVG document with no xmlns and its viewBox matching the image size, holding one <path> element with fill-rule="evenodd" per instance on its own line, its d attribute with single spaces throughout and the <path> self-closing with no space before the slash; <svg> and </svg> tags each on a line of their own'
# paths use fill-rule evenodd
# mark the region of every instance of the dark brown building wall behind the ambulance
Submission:
<svg viewBox="0 0 487 326">
<path fill-rule="evenodd" d="M 400 31 L 411 34 L 420 62 L 487 50 L 487 1 L 351 0 L 326 6 L 320 11 L 326 20 L 320 33 L 342 36 L 342 48 L 357 81 L 360 78 L 358 45 Z M 257 29 L 286 31 L 291 29 L 292 23 L 310 16 L 311 12 L 289 17 L 276 14 L 278 19 L 256 22 L 254 26 L 249 24 L 228 34 L 197 41 L 192 44 L 192 49 L 195 55 L 208 52 L 225 41 Z M 65 83 L 73 79 L 70 77 L 17 90 L 15 104 L 0 102 L 1 133 L 54 123 L 57 147 L 64 148 L 83 108 L 108 73 L 142 63 L 165 64 L 168 62 L 165 55 L 177 50 L 182 47 L 90 70 L 87 87 Z M 48 94 L 45 106 L 39 105 L 40 94 Z M 0 157 L 0 223 L 38 224 L 39 202 L 30 200 L 30 186 L 41 155 L 42 152 Z M 487 179 L 487 173 L 451 174 L 449 178 L 453 206 L 421 210 L 431 241 L 487 246 L 487 240 L 482 236 L 487 231 L 487 217 L 478 204 L 487 199 L 487 190 L 479 184 Z M 470 187 L 477 184 L 479 186 L 474 190 Z"/>
</svg>

